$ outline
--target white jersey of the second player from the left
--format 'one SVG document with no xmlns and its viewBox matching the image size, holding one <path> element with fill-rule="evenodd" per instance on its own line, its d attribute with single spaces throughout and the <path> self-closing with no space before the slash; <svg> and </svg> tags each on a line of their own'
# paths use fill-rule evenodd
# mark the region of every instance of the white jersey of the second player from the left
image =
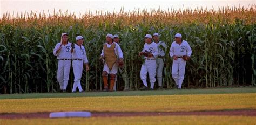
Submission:
<svg viewBox="0 0 256 125">
<path fill-rule="evenodd" d="M 72 52 L 72 59 L 82 59 L 84 64 L 88 63 L 86 51 L 83 45 L 78 46 L 77 44 L 75 44 L 75 48 Z"/>
</svg>

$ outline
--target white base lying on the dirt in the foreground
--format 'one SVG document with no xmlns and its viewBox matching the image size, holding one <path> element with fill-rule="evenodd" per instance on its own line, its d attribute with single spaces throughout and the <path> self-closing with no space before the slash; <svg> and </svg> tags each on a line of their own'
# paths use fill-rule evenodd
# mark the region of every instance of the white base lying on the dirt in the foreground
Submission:
<svg viewBox="0 0 256 125">
<path fill-rule="evenodd" d="M 57 117 L 91 117 L 90 112 L 53 112 L 49 115 L 50 118 Z"/>
</svg>

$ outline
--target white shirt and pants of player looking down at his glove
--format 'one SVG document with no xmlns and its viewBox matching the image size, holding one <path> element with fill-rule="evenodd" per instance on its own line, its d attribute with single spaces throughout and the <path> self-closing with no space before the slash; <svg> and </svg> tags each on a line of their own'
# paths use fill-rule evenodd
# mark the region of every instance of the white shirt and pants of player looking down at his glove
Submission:
<svg viewBox="0 0 256 125">
<path fill-rule="evenodd" d="M 154 82 L 156 82 L 156 70 L 157 70 L 157 62 L 156 58 L 159 55 L 157 44 L 152 42 L 151 44 L 144 44 L 142 52 L 149 51 L 153 54 L 152 57 L 144 57 L 145 62 L 142 65 L 140 70 L 140 79 L 142 79 L 144 86 L 147 87 L 147 72 L 149 72 L 150 77 L 150 87 L 154 88 Z"/>
</svg>

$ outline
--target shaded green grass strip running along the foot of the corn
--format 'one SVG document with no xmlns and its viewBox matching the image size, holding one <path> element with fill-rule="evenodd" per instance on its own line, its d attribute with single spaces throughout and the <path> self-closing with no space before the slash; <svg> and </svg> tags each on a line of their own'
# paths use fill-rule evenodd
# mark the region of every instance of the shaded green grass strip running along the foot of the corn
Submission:
<svg viewBox="0 0 256 125">
<path fill-rule="evenodd" d="M 170 89 L 163 91 L 119 91 L 119 92 L 85 92 L 85 93 L 30 93 L 2 94 L 0 99 L 30 98 L 67 98 L 67 97 L 100 97 L 100 96 L 147 96 L 147 95 L 190 95 L 190 94 L 234 94 L 256 93 L 255 87 L 210 88 L 210 89 Z"/>
</svg>

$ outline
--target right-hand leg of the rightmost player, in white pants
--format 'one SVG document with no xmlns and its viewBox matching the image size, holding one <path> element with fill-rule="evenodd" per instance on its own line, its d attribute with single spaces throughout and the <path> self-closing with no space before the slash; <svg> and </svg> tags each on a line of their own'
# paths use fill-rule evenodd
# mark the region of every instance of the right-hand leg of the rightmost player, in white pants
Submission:
<svg viewBox="0 0 256 125">
<path fill-rule="evenodd" d="M 183 59 L 179 59 L 179 73 L 178 73 L 178 82 L 179 82 L 179 89 L 181 89 L 182 82 L 184 80 L 185 75 L 185 68 L 186 68 L 186 61 Z"/>
</svg>

